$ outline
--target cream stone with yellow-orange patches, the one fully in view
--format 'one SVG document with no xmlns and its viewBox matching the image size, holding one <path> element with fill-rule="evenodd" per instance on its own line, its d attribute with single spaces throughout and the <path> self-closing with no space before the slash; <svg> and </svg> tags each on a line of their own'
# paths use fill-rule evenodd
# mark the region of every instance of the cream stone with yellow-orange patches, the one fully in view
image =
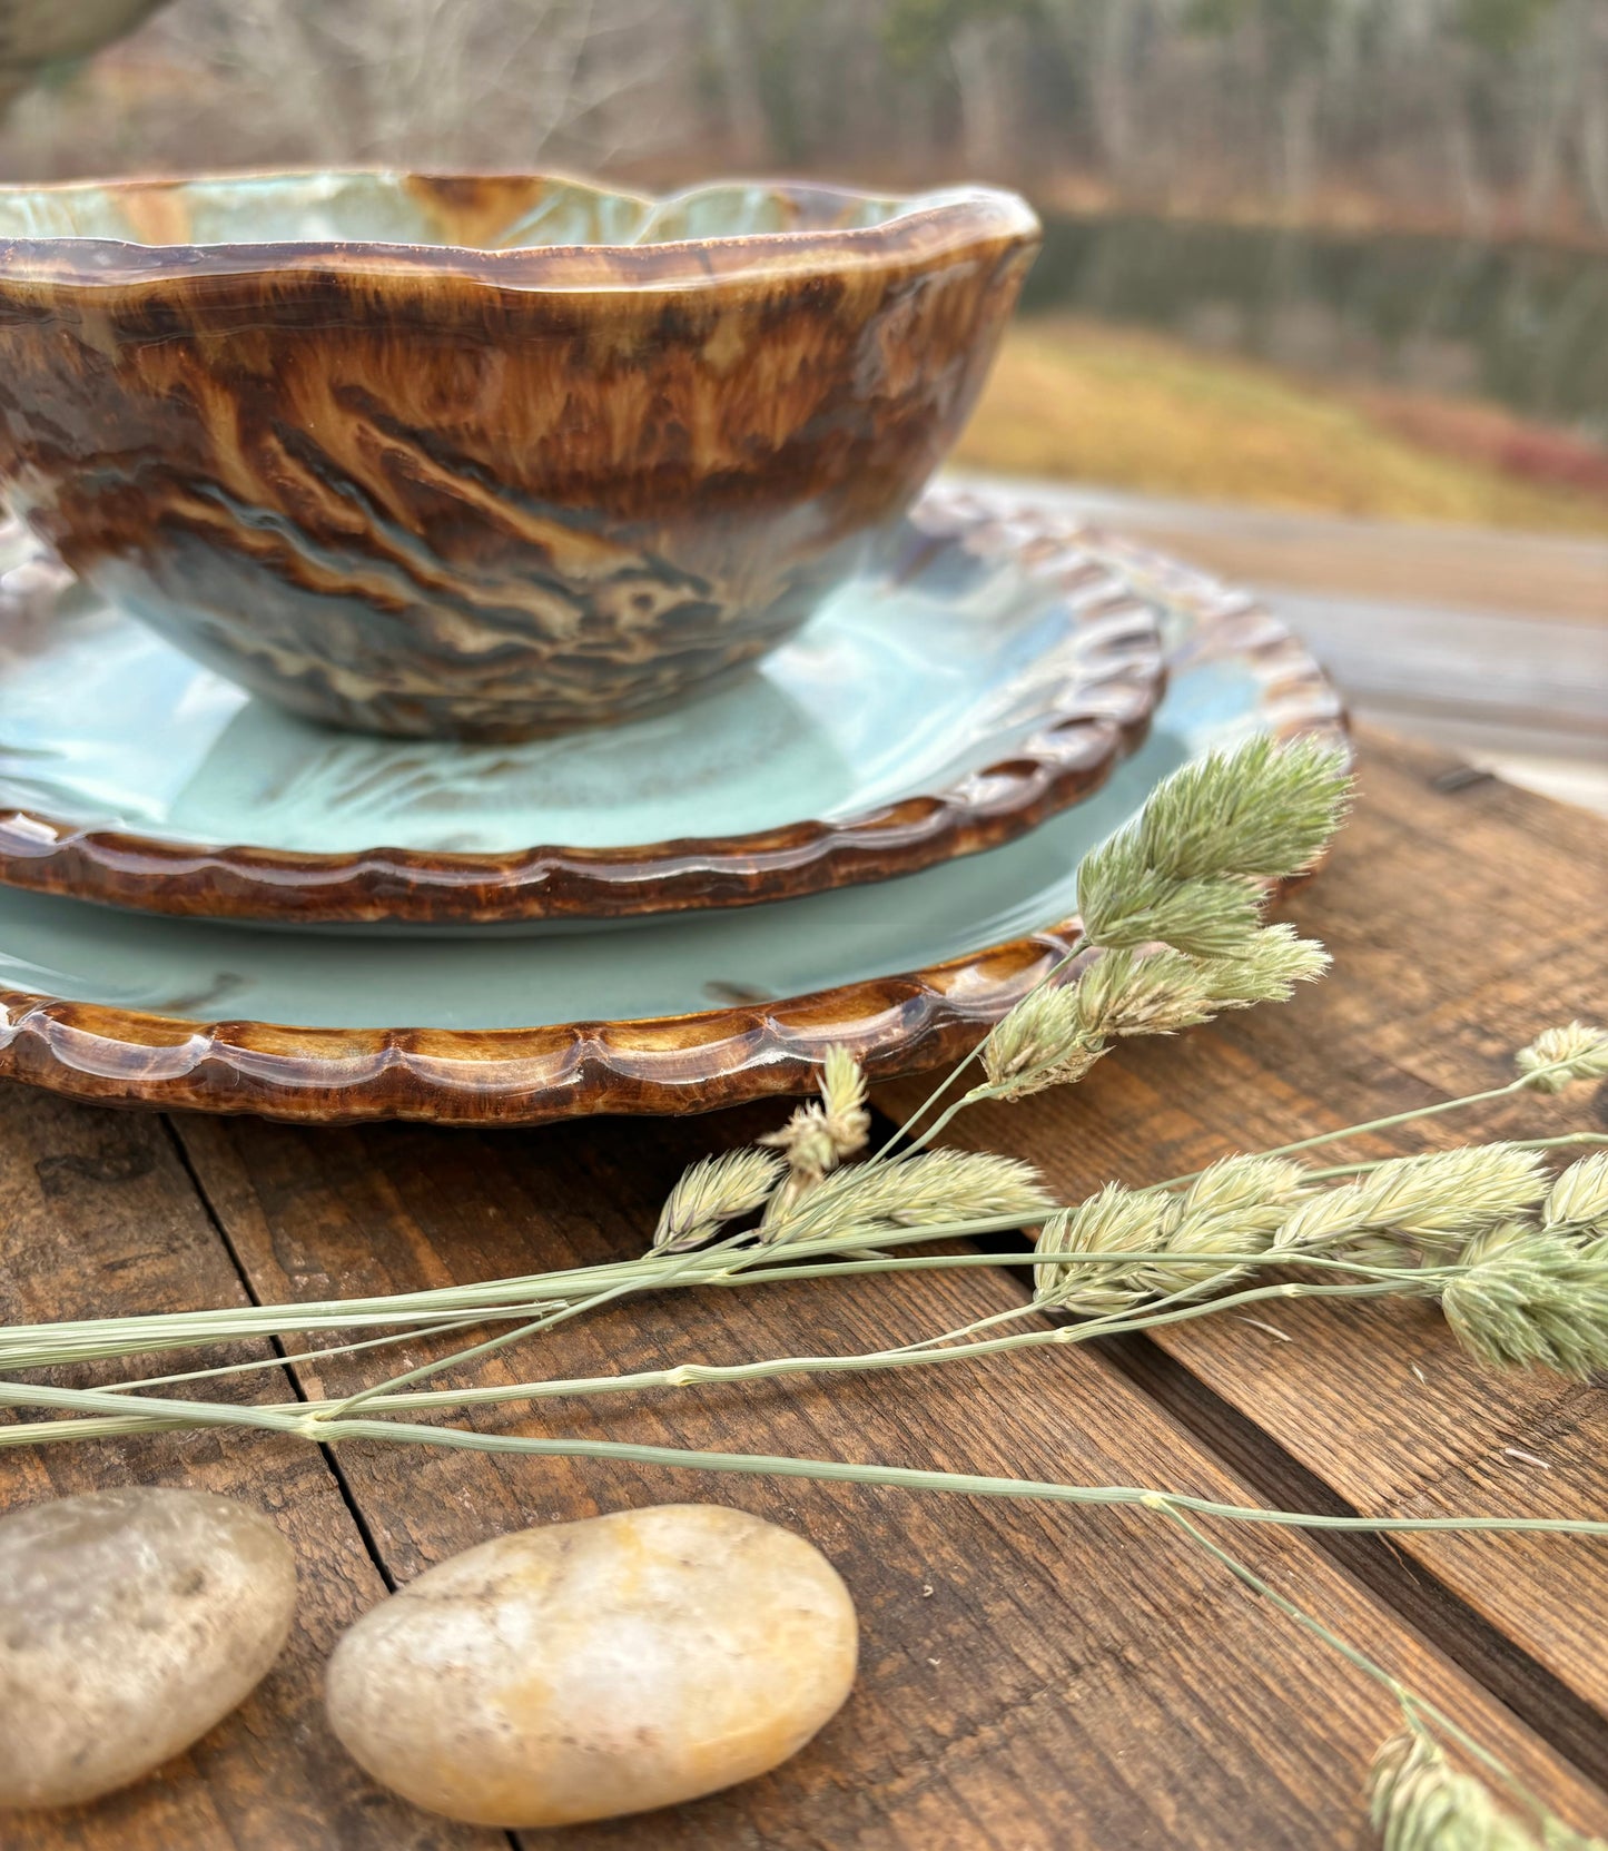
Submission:
<svg viewBox="0 0 1608 1851">
<path fill-rule="evenodd" d="M 724 1505 L 522 1529 L 427 1570 L 340 1640 L 335 1734 L 474 1825 L 572 1825 L 748 1781 L 855 1681 L 849 1590 Z"/>
</svg>

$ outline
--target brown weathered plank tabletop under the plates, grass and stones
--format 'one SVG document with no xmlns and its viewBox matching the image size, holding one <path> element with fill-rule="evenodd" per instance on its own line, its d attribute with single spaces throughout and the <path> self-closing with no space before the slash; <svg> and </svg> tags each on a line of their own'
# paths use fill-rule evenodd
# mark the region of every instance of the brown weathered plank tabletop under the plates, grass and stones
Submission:
<svg viewBox="0 0 1608 1851">
<path fill-rule="evenodd" d="M 1179 1042 L 1127 1044 L 1082 1087 L 999 1109 L 973 1138 L 1070 1198 L 1225 1149 L 1501 1083 L 1551 1022 L 1604 1020 L 1608 829 L 1382 737 L 1332 864 L 1292 903 L 1329 983 Z M 881 1101 L 897 1111 L 912 1087 Z M 637 1251 L 690 1159 L 777 1109 L 470 1135 L 163 1120 L 0 1096 L 11 1318 L 398 1292 Z M 1419 1140 L 1602 1125 L 1608 1099 L 1525 1098 Z M 962 1122 L 964 1125 L 964 1122 Z M 1373 1142 L 1367 1151 L 1392 1146 Z M 1406 1148 L 1406 1144 L 1403 1146 Z M 1366 1153 L 1366 1151 L 1364 1151 Z M 555 1333 L 561 1372 L 909 1340 L 1018 1303 L 1007 1270 L 735 1296 L 664 1294 Z M 248 1353 L 248 1351 L 242 1351 Z M 405 1351 L 422 1360 L 426 1344 Z M 389 1355 L 396 1355 L 390 1351 Z M 361 1360 L 361 1359 L 359 1359 Z M 398 1360 L 392 1368 L 402 1368 Z M 372 1368 L 372 1364 L 370 1364 Z M 483 1366 L 509 1377 L 505 1359 Z M 289 1381 L 287 1381 L 289 1377 Z M 342 1394 L 350 1359 L 233 1377 Z M 594 1410 L 596 1409 L 596 1410 Z M 683 1390 L 625 1407 L 503 1407 L 487 1425 L 1164 1485 L 1319 1510 L 1597 1514 L 1608 1403 L 1477 1373 L 1419 1305 L 1280 1307 L 949 1372 Z M 1360 1788 L 1395 1727 L 1377 1690 L 1157 1518 L 662 1470 L 313 1451 L 209 1433 L 0 1455 L 0 1505 L 183 1483 L 270 1512 L 302 1564 L 291 1649 L 257 1696 L 144 1786 L 9 1816 L 6 1851 L 468 1851 L 501 1832 L 370 1786 L 326 1731 L 320 1666 L 387 1586 L 500 1531 L 712 1497 L 796 1525 L 860 1607 L 847 1708 L 779 1773 L 696 1807 L 579 1829 L 575 1851 L 1366 1845 Z M 1232 1546 L 1454 1710 L 1580 1827 L 1608 1829 L 1608 1547 L 1569 1540 L 1293 1536 Z M 553 1842 L 529 1834 L 524 1844 Z"/>
</svg>

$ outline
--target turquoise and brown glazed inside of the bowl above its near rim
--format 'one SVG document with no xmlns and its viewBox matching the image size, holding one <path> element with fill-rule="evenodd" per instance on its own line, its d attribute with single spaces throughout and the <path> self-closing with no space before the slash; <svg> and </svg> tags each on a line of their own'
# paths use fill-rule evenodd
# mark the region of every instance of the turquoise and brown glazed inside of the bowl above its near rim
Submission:
<svg viewBox="0 0 1608 1851">
<path fill-rule="evenodd" d="M 0 237 L 122 244 L 666 244 L 862 230 L 936 204 L 844 187 L 718 181 L 664 200 L 544 174 L 235 174 L 0 187 Z"/>
</svg>

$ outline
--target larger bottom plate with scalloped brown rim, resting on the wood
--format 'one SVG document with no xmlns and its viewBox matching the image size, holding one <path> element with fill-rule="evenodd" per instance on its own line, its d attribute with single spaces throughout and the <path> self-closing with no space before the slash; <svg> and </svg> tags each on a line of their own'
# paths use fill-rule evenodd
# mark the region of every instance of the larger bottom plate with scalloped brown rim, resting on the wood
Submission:
<svg viewBox="0 0 1608 1851">
<path fill-rule="evenodd" d="M 901 881 L 551 938 L 355 940 L 0 892 L 0 1072 L 309 1122 L 537 1124 L 798 1092 L 833 1042 L 879 1077 L 957 1059 L 1075 946 L 1079 859 L 1162 777 L 1256 731 L 1343 731 L 1253 598 L 1077 544 L 1155 603 L 1169 685 L 1145 744 L 1031 835 Z"/>
</svg>

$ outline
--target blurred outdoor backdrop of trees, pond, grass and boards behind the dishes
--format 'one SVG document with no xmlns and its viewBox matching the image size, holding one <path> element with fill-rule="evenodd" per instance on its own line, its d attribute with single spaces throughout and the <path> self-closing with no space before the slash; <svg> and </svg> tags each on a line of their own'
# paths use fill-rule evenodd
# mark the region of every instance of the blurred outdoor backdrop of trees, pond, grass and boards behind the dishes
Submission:
<svg viewBox="0 0 1608 1851">
<path fill-rule="evenodd" d="M 1608 811 L 1608 0 L 0 0 L 0 96 L 4 180 L 1016 185 L 1045 248 L 957 466 Z"/>
</svg>

